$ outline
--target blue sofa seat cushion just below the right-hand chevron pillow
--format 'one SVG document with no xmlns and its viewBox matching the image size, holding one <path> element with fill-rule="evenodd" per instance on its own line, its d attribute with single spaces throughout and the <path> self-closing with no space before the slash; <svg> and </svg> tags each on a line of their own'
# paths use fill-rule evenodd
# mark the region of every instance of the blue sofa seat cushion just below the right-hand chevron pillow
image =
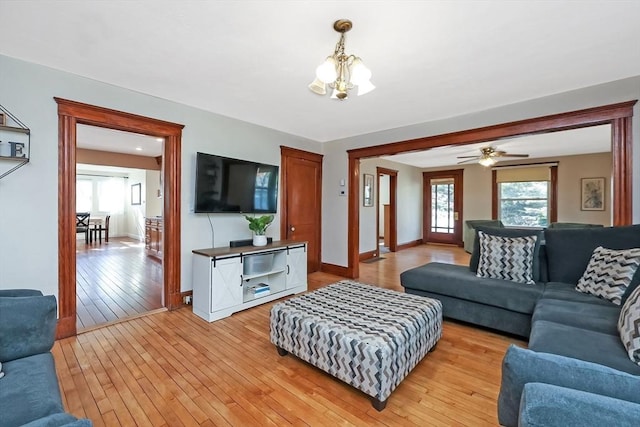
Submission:
<svg viewBox="0 0 640 427">
<path fill-rule="evenodd" d="M 574 291 L 575 292 L 575 291 Z M 590 331 L 618 335 L 616 327 L 620 307 L 614 304 L 599 305 L 577 301 L 563 301 L 543 297 L 536 304 L 532 322 L 547 320 L 575 326 Z"/>
</svg>

